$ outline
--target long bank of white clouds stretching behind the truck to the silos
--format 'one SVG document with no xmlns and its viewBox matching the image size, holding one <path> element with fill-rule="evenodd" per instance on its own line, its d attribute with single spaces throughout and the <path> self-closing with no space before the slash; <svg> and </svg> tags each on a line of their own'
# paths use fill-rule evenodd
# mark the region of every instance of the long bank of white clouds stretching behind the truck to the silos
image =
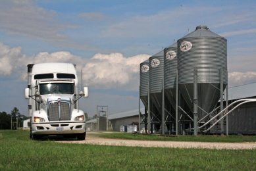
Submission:
<svg viewBox="0 0 256 171">
<path fill-rule="evenodd" d="M 96 54 L 83 59 L 68 51 L 42 52 L 34 57 L 23 55 L 20 47 L 11 48 L 0 43 L 0 74 L 20 74 L 26 79 L 26 65 L 41 62 L 71 62 L 76 64 L 78 74 L 82 69 L 84 83 L 91 87 L 138 89 L 139 64 L 149 55 L 124 57 L 121 53 Z"/>
</svg>

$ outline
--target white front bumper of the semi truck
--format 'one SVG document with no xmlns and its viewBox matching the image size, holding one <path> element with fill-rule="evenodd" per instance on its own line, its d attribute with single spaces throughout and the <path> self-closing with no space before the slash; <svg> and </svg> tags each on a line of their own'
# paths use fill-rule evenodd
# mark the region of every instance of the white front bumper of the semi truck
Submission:
<svg viewBox="0 0 256 171">
<path fill-rule="evenodd" d="M 85 122 L 32 123 L 32 134 L 37 135 L 80 134 L 85 132 Z"/>
</svg>

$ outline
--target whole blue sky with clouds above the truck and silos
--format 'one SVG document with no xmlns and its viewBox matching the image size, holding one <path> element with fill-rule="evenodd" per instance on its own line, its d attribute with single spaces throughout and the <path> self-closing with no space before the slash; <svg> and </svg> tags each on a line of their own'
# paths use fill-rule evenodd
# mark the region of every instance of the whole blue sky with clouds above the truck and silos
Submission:
<svg viewBox="0 0 256 171">
<path fill-rule="evenodd" d="M 256 81 L 256 1 L 1 1 L 0 111 L 26 114 L 26 64 L 75 62 L 80 107 L 138 108 L 139 63 L 207 25 L 228 39 L 229 86 Z"/>
</svg>

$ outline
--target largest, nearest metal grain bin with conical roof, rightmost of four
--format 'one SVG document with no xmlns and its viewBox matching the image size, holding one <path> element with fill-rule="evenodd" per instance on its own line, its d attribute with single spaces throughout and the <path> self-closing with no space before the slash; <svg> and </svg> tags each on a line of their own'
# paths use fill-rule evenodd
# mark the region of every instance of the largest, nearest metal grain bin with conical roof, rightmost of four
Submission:
<svg viewBox="0 0 256 171">
<path fill-rule="evenodd" d="M 224 37 L 211 32 L 207 26 L 197 26 L 194 32 L 178 39 L 178 84 L 190 109 L 193 109 L 195 68 L 198 106 L 211 112 L 220 99 L 220 70 L 224 89 L 228 84 L 227 44 Z M 199 119 L 205 116 L 201 109 Z"/>
</svg>

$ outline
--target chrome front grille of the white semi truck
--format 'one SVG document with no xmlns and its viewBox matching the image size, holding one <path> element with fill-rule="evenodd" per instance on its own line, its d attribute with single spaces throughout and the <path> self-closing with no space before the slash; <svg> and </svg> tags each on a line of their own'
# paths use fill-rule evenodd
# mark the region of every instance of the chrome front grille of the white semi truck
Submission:
<svg viewBox="0 0 256 171">
<path fill-rule="evenodd" d="M 69 103 L 61 101 L 60 106 L 58 105 L 58 101 L 49 103 L 48 119 L 49 121 L 70 120 Z"/>
</svg>

